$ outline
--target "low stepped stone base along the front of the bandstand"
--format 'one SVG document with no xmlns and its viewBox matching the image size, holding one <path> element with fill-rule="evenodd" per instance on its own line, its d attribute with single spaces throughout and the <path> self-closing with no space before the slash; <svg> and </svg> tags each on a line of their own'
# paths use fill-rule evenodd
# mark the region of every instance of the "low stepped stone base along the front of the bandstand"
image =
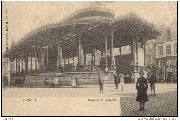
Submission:
<svg viewBox="0 0 180 121">
<path fill-rule="evenodd" d="M 72 77 L 78 78 L 80 85 L 98 85 L 98 72 L 97 73 L 88 73 L 88 72 L 72 72 L 64 74 L 42 74 L 36 76 L 26 76 L 25 77 L 25 86 L 44 86 L 44 79 L 46 75 L 50 77 L 57 77 L 60 79 L 60 86 L 70 86 L 72 82 Z M 106 74 L 106 83 L 113 83 L 113 75 Z"/>
</svg>

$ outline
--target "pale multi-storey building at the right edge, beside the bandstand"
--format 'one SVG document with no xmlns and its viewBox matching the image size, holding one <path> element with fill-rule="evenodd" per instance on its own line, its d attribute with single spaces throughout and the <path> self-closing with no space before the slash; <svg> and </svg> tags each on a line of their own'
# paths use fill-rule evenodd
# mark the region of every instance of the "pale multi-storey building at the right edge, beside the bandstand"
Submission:
<svg viewBox="0 0 180 121">
<path fill-rule="evenodd" d="M 171 37 L 171 29 L 156 44 L 157 78 L 160 82 L 177 82 L 177 37 Z"/>
</svg>

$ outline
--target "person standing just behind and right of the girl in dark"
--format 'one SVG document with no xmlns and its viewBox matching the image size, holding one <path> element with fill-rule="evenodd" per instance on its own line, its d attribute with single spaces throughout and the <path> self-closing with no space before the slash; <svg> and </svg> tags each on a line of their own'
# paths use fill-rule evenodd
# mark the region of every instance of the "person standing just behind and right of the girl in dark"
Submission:
<svg viewBox="0 0 180 121">
<path fill-rule="evenodd" d="M 156 74 L 155 73 L 152 73 L 152 72 L 148 72 L 147 74 L 147 79 L 150 83 L 150 88 L 151 88 L 151 95 L 152 95 L 152 91 L 154 92 L 154 96 L 156 96 L 156 93 L 155 93 L 155 83 L 156 83 Z"/>
</svg>

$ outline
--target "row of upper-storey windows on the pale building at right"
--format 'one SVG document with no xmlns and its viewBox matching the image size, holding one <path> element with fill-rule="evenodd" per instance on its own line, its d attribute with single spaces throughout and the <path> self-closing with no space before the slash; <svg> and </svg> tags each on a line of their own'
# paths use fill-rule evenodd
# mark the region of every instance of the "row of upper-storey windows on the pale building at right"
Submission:
<svg viewBox="0 0 180 121">
<path fill-rule="evenodd" d="M 171 55 L 171 45 L 166 45 L 166 55 Z M 174 44 L 174 54 L 177 54 L 177 43 Z M 163 46 L 158 46 L 158 55 L 163 56 Z"/>
</svg>

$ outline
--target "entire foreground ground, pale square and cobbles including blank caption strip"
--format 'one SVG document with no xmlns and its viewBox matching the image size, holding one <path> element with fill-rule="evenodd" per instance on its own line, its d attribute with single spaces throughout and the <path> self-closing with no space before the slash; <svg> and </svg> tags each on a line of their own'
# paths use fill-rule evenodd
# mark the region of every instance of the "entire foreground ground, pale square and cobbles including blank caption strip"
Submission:
<svg viewBox="0 0 180 121">
<path fill-rule="evenodd" d="M 120 87 L 119 87 L 120 88 Z M 138 111 L 135 84 L 125 84 L 124 91 L 113 84 L 78 88 L 9 87 L 2 92 L 3 115 L 33 116 L 176 116 L 177 84 L 156 84 L 157 96 L 150 96 L 146 111 Z"/>
</svg>

